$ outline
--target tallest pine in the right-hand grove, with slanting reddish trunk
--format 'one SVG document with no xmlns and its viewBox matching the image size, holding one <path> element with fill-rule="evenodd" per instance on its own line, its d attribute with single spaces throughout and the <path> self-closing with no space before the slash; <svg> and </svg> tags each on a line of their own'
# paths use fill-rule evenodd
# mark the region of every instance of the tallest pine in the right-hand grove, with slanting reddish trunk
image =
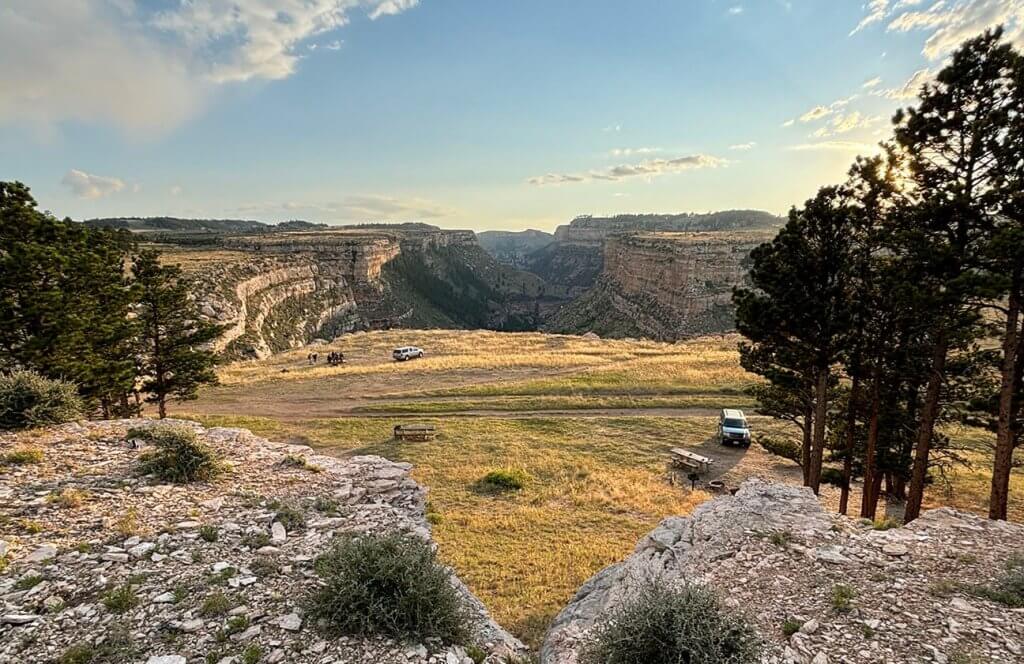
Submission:
<svg viewBox="0 0 1024 664">
<path fill-rule="evenodd" d="M 934 321 L 906 521 L 921 512 L 947 360 L 973 341 L 978 303 L 992 294 L 983 254 L 995 224 L 994 184 L 1014 102 L 1011 50 L 1000 38 L 993 31 L 965 43 L 925 87 L 920 105 L 894 120 L 913 199 L 898 219 L 894 250 L 924 266 L 918 288 Z"/>
</svg>

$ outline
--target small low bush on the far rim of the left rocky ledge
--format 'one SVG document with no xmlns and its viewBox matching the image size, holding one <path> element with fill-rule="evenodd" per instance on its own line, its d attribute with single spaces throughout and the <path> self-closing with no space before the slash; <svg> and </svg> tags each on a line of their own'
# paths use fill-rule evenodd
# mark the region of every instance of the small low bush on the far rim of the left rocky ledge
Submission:
<svg viewBox="0 0 1024 664">
<path fill-rule="evenodd" d="M 155 448 L 140 456 L 142 469 L 165 482 L 205 482 L 220 472 L 220 462 L 213 450 L 185 426 L 166 424 L 131 429 L 128 438 L 141 439 Z"/>
</svg>

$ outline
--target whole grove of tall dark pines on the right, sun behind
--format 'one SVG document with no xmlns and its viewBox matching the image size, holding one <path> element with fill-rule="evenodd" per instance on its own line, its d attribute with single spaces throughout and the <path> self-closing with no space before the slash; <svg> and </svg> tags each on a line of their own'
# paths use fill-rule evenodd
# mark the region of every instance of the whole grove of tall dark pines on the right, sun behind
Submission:
<svg viewBox="0 0 1024 664">
<path fill-rule="evenodd" d="M 859 476 L 862 516 L 885 482 L 915 518 L 959 422 L 994 434 L 1005 520 L 1024 431 L 1024 55 L 1001 30 L 966 42 L 893 126 L 752 252 L 741 362 L 767 379 L 764 412 L 803 430 L 804 484 L 840 486 L 844 513 Z"/>
</svg>

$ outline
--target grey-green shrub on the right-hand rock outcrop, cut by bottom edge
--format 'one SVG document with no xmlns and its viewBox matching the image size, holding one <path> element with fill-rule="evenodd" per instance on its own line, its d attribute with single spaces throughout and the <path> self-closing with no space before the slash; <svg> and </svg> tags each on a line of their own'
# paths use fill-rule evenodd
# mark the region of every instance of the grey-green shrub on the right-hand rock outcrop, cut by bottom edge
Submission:
<svg viewBox="0 0 1024 664">
<path fill-rule="evenodd" d="M 753 664 L 761 639 L 711 590 L 648 581 L 605 615 L 582 654 L 584 664 Z"/>
</svg>

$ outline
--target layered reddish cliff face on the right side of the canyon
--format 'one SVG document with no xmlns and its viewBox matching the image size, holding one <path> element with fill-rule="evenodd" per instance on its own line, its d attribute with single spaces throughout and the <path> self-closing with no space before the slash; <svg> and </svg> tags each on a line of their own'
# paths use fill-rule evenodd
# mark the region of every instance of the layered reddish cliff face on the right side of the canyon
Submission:
<svg viewBox="0 0 1024 664">
<path fill-rule="evenodd" d="M 751 250 L 770 238 L 762 231 L 609 237 L 597 284 L 549 327 L 664 340 L 731 330 L 732 288 L 745 279 Z"/>
</svg>

